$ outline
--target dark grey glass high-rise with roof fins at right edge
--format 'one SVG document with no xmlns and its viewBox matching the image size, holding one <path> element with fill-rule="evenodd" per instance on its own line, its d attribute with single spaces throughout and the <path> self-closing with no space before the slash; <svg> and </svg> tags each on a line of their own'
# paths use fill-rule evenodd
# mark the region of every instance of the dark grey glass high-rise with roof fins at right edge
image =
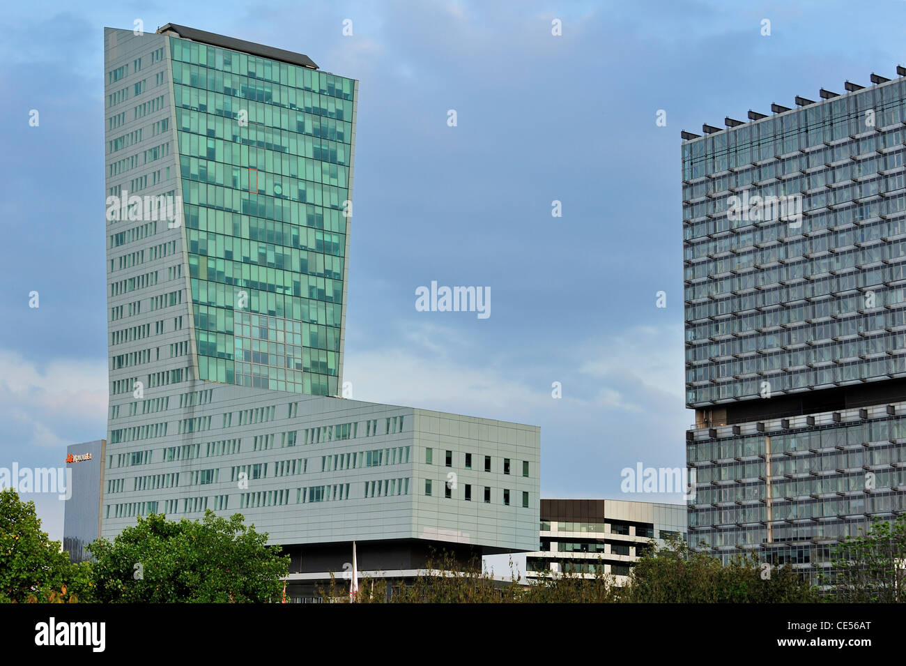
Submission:
<svg viewBox="0 0 906 666">
<path fill-rule="evenodd" d="M 906 79 L 872 83 L 682 133 L 689 543 L 813 579 L 906 510 Z"/>
</svg>

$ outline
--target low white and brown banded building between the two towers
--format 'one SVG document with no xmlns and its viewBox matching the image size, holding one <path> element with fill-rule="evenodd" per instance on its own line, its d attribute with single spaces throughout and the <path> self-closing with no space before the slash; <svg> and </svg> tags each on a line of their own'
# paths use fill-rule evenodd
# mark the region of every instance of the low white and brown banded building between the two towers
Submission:
<svg viewBox="0 0 906 666">
<path fill-rule="evenodd" d="M 685 541 L 685 505 L 619 499 L 542 499 L 541 544 L 526 558 L 526 577 L 609 574 L 618 585 L 651 539 Z"/>
</svg>

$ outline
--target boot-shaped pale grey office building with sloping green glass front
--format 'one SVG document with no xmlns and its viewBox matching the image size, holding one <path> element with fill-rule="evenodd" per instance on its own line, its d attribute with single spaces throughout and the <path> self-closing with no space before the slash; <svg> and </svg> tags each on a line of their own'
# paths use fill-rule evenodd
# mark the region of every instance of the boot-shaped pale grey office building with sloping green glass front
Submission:
<svg viewBox="0 0 906 666">
<path fill-rule="evenodd" d="M 536 427 L 340 397 L 358 82 L 175 24 L 104 40 L 102 535 L 241 512 L 300 581 L 353 540 L 397 572 L 535 548 Z"/>
</svg>

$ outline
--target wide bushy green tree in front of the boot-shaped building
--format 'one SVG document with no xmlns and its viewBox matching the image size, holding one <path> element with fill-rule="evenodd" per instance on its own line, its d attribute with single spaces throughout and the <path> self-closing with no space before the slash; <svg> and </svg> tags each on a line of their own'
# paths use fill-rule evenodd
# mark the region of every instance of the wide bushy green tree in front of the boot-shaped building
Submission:
<svg viewBox="0 0 906 666">
<path fill-rule="evenodd" d="M 97 598 L 108 603 L 265 603 L 280 600 L 289 555 L 265 545 L 245 517 L 201 521 L 139 516 L 113 541 L 88 546 Z"/>
</svg>

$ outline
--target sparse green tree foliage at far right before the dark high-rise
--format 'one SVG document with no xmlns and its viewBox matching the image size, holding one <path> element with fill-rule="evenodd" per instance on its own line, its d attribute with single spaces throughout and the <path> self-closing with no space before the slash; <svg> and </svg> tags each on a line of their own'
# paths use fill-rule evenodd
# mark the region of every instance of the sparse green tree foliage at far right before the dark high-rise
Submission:
<svg viewBox="0 0 906 666">
<path fill-rule="evenodd" d="M 835 601 L 906 602 L 906 515 L 895 522 L 876 520 L 867 534 L 837 546 L 833 572 Z"/>
</svg>

